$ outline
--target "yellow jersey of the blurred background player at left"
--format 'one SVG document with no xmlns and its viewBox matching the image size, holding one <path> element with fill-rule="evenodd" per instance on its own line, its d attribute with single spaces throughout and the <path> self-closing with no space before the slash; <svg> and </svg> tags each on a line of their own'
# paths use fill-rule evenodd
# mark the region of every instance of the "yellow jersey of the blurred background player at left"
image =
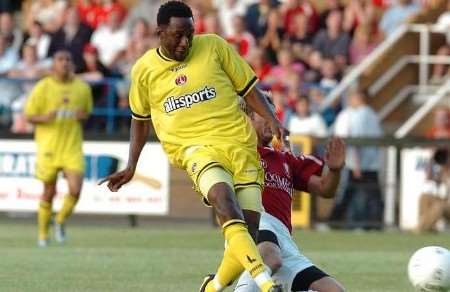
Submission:
<svg viewBox="0 0 450 292">
<path fill-rule="evenodd" d="M 25 115 L 42 115 L 55 110 L 57 116 L 52 122 L 36 125 L 35 140 L 38 155 L 51 155 L 52 159 L 60 160 L 82 151 L 83 129 L 75 113 L 92 111 L 90 86 L 78 78 L 67 83 L 53 77 L 40 80 L 28 97 Z"/>
</svg>

